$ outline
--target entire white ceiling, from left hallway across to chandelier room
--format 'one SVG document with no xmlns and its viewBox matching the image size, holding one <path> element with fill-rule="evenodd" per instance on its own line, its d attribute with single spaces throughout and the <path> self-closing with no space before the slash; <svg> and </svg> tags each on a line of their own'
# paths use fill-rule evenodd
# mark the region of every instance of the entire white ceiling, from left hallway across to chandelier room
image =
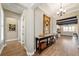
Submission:
<svg viewBox="0 0 79 59">
<path fill-rule="evenodd" d="M 4 9 L 11 10 L 13 12 L 21 14 L 23 8 L 38 6 L 42 10 L 50 13 L 56 14 L 59 9 L 59 3 L 4 3 L 2 4 Z M 63 8 L 66 9 L 66 12 L 77 11 L 79 10 L 78 3 L 63 3 Z"/>
</svg>

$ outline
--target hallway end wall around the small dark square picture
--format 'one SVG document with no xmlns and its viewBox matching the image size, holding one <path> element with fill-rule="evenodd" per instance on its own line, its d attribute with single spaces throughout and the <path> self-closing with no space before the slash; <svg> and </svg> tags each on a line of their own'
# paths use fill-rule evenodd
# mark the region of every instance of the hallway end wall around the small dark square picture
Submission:
<svg viewBox="0 0 79 59">
<path fill-rule="evenodd" d="M 20 15 L 8 10 L 4 10 L 4 14 L 5 14 L 5 39 L 7 41 L 18 39 L 18 20 L 20 20 Z M 9 31 L 8 29 L 9 24 L 16 24 L 16 31 Z"/>
</svg>

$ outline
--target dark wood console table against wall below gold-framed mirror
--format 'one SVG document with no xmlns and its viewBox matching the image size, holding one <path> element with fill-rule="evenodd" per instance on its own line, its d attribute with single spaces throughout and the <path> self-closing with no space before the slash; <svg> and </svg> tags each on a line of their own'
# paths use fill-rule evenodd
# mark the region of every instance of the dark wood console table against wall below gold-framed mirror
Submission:
<svg viewBox="0 0 79 59">
<path fill-rule="evenodd" d="M 52 43 L 55 42 L 54 35 L 47 35 L 44 37 L 36 37 L 36 51 L 39 50 L 39 53 L 45 48 L 49 47 Z M 45 43 L 46 47 L 41 49 L 41 44 Z"/>
</svg>

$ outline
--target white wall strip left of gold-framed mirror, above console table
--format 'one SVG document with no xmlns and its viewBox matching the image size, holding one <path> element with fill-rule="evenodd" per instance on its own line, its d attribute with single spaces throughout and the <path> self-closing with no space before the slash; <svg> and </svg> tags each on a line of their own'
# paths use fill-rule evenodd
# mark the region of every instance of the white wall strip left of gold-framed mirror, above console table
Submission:
<svg viewBox="0 0 79 59">
<path fill-rule="evenodd" d="M 39 8 L 35 9 L 35 37 L 43 33 L 43 14 L 44 12 Z"/>
</svg>

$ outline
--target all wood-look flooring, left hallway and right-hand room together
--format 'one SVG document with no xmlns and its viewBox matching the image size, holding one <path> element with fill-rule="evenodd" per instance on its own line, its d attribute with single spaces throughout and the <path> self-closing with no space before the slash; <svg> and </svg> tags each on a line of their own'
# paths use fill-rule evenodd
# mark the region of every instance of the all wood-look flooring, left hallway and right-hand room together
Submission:
<svg viewBox="0 0 79 59">
<path fill-rule="evenodd" d="M 2 56 L 26 56 L 24 47 L 17 41 L 8 42 L 2 51 Z M 55 44 L 48 47 L 41 54 L 34 56 L 79 56 L 79 48 L 72 37 L 62 36 Z"/>
</svg>

